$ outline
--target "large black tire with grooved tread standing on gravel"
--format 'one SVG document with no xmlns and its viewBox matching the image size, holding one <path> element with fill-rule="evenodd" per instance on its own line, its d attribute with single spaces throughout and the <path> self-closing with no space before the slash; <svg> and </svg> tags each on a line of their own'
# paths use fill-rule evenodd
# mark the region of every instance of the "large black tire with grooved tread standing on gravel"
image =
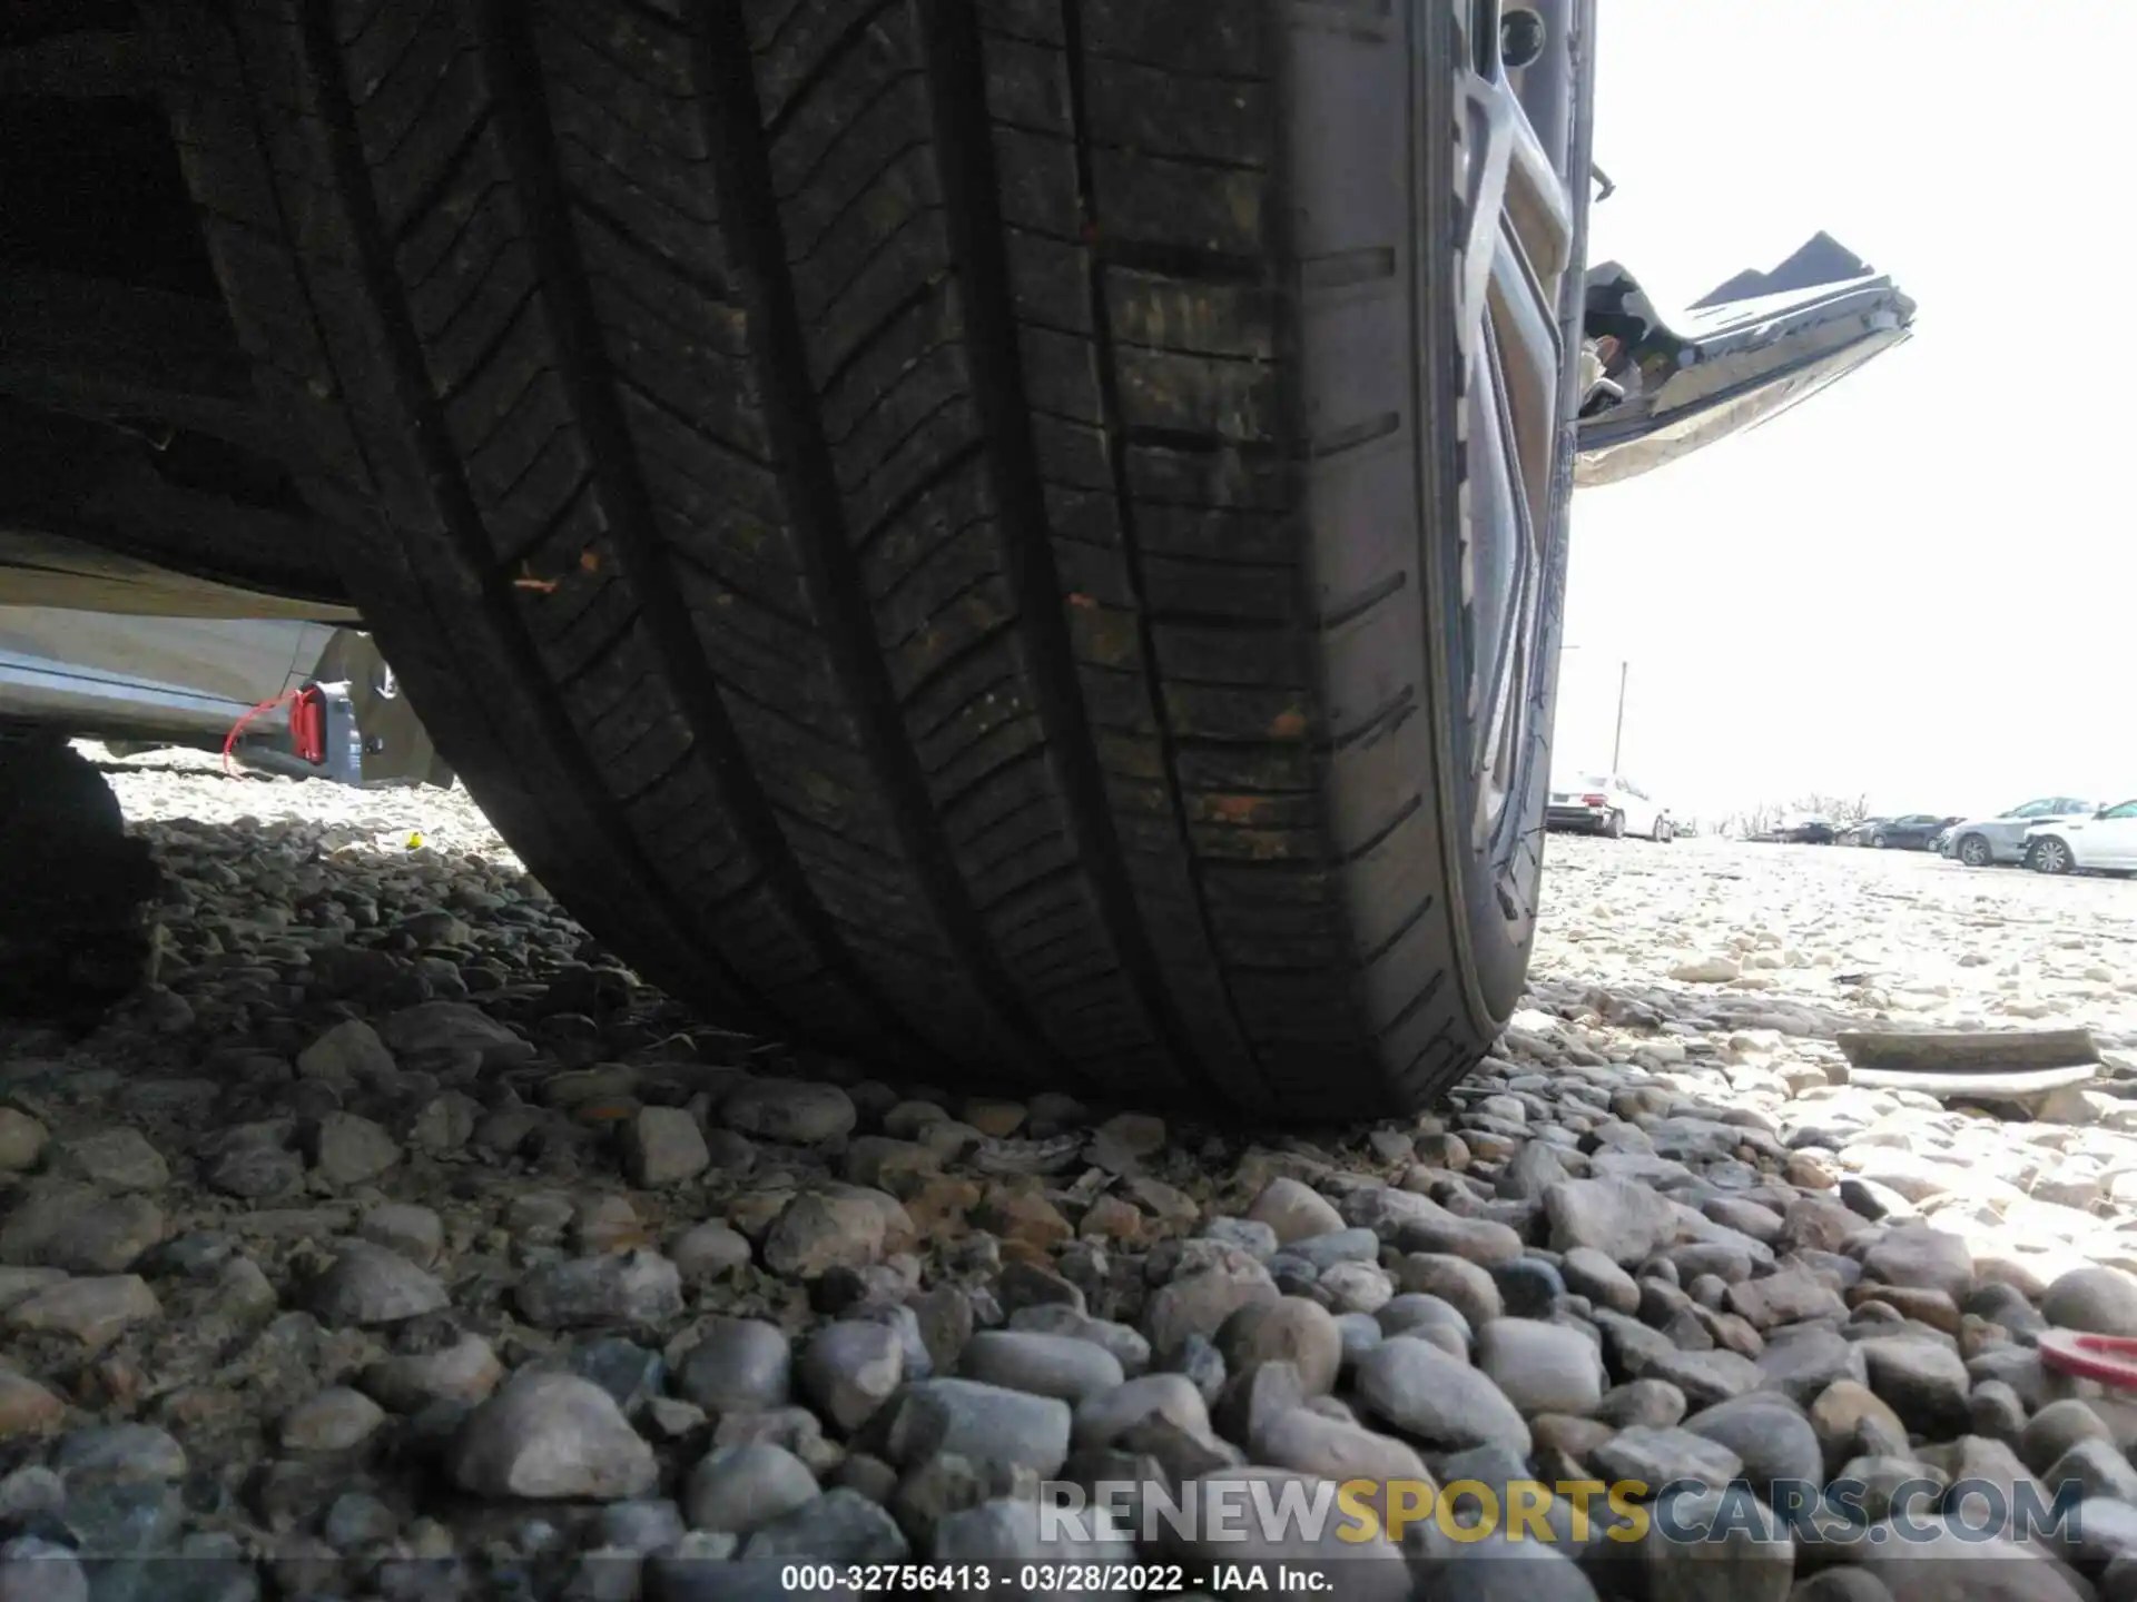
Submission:
<svg viewBox="0 0 2137 1602">
<path fill-rule="evenodd" d="M 1534 931 L 1571 363 L 1487 805 L 1483 13 L 248 0 L 177 126 L 348 583 L 596 933 L 891 1068 L 1368 1115 Z"/>
</svg>

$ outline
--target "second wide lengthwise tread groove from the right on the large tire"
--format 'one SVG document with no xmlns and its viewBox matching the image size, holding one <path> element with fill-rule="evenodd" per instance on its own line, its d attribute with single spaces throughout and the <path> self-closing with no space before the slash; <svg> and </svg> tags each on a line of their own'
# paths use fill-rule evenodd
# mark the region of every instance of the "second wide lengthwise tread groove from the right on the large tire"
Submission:
<svg viewBox="0 0 2137 1602">
<path fill-rule="evenodd" d="M 709 90 L 699 96 L 699 105 L 707 147 L 714 152 L 722 233 L 733 258 L 748 265 L 737 276 L 756 290 L 754 355 L 765 423 L 774 440 L 784 436 L 784 449 L 778 451 L 780 476 L 795 517 L 804 585 L 825 619 L 827 656 L 855 707 L 863 754 L 883 784 L 891 822 L 951 955 L 985 1006 L 1009 1034 L 1028 1042 L 1036 1062 L 1047 1064 L 1054 1074 L 1071 1072 L 1039 1027 L 1009 970 L 1002 968 L 966 895 L 940 818 L 927 803 L 919 756 L 904 737 L 889 666 L 874 647 L 874 619 L 861 564 L 833 489 L 831 451 L 816 402 L 806 387 L 808 346 L 778 220 L 769 141 L 759 111 L 744 17 L 731 0 L 699 0 L 690 9 L 690 45 L 701 83 Z M 789 98 L 789 107 L 797 103 Z"/>
</svg>

